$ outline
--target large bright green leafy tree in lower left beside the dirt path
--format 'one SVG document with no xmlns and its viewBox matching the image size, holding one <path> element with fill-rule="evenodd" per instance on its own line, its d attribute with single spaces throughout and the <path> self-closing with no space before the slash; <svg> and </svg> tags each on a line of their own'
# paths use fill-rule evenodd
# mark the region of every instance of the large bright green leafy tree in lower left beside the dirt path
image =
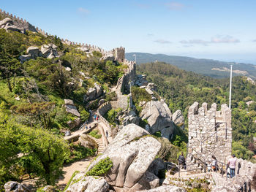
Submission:
<svg viewBox="0 0 256 192">
<path fill-rule="evenodd" d="M 0 185 L 18 180 L 20 173 L 34 174 L 53 185 L 68 157 L 69 146 L 64 139 L 42 128 L 0 119 Z"/>
</svg>

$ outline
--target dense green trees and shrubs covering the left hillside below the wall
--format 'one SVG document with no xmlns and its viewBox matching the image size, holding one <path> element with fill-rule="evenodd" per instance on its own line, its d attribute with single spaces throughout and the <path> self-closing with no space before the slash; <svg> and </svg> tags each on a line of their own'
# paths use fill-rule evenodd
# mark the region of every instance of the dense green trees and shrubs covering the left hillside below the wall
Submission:
<svg viewBox="0 0 256 192">
<path fill-rule="evenodd" d="M 20 63 L 28 47 L 45 44 L 56 45 L 59 58 Z M 97 51 L 88 56 L 77 47 L 62 44 L 59 37 L 0 29 L 0 191 L 7 180 L 20 181 L 23 174 L 53 185 L 64 163 L 94 154 L 62 139 L 70 128 L 67 122 L 77 118 L 66 112 L 64 99 L 74 101 L 83 123 L 98 104 L 84 101 L 89 88 L 97 82 L 108 93 L 127 66 L 102 61 Z M 113 97 L 107 94 L 108 100 Z"/>
</svg>

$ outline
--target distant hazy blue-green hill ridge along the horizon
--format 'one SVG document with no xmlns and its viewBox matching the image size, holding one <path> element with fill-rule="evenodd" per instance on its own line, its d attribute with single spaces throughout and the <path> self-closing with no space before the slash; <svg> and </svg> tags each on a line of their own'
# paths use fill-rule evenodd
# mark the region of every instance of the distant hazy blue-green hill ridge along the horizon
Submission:
<svg viewBox="0 0 256 192">
<path fill-rule="evenodd" d="M 134 61 L 135 58 L 132 56 L 134 54 L 137 56 L 138 64 L 162 61 L 178 66 L 178 68 L 186 71 L 204 74 L 214 78 L 229 77 L 230 75 L 230 63 L 223 61 L 150 53 L 126 53 L 126 58 L 130 61 Z M 233 75 L 245 75 L 255 80 L 256 66 L 252 64 L 234 64 Z"/>
</svg>

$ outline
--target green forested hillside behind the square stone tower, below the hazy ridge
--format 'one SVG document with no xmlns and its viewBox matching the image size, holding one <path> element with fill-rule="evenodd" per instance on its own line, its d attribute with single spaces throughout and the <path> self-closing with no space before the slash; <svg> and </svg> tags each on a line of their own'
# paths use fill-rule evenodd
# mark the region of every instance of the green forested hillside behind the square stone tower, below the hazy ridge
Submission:
<svg viewBox="0 0 256 192">
<path fill-rule="evenodd" d="M 170 110 L 181 110 L 187 126 L 187 110 L 195 101 L 202 104 L 228 104 L 229 78 L 211 77 L 186 72 L 165 63 L 147 63 L 137 66 L 138 73 L 147 74 L 147 80 L 157 85 L 157 92 L 166 99 Z M 253 137 L 256 137 L 256 85 L 246 77 L 233 77 L 232 128 L 233 153 L 252 160 L 256 154 Z"/>
</svg>

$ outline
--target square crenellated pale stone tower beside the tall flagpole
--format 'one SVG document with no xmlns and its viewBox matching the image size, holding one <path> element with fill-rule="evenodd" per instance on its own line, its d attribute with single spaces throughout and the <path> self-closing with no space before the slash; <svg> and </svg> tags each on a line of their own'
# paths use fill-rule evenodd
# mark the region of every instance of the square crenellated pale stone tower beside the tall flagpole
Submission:
<svg viewBox="0 0 256 192">
<path fill-rule="evenodd" d="M 217 161 L 226 164 L 232 144 L 231 110 L 227 104 L 222 104 L 217 111 L 217 104 L 212 104 L 208 110 L 207 103 L 199 108 L 195 102 L 189 107 L 188 120 L 188 153 L 202 161 L 212 161 L 214 155 Z M 191 162 L 192 159 L 187 158 L 187 164 Z"/>
</svg>

